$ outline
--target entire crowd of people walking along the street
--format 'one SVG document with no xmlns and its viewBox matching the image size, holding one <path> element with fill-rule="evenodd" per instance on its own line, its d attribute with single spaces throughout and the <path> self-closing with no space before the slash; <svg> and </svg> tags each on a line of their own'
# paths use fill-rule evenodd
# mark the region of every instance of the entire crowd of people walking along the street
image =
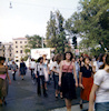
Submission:
<svg viewBox="0 0 109 111">
<path fill-rule="evenodd" d="M 8 92 L 8 68 L 3 65 L 4 58 L 0 57 L 0 104 L 7 104 L 6 95 Z M 52 61 L 47 60 L 43 54 L 36 62 L 31 59 L 29 64 L 30 75 L 33 84 L 37 84 L 37 93 L 48 97 L 47 90 L 51 78 L 54 84 L 54 97 L 65 99 L 67 111 L 71 111 L 71 101 L 77 99 L 76 88 L 80 88 L 80 109 L 83 108 L 83 100 L 89 101 L 89 111 L 109 111 L 109 54 L 99 57 L 75 57 L 71 52 L 63 56 L 58 53 Z M 18 68 L 12 62 L 11 72 L 16 81 Z M 19 75 L 23 80 L 27 67 L 21 60 Z M 93 107 L 95 104 L 95 107 Z"/>
</svg>

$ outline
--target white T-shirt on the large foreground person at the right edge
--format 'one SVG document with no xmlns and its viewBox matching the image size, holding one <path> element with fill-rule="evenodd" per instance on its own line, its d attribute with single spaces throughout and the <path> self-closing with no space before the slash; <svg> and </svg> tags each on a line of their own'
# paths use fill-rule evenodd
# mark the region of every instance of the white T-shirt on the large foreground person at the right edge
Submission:
<svg viewBox="0 0 109 111">
<path fill-rule="evenodd" d="M 109 72 L 98 70 L 95 74 L 93 83 L 99 85 L 96 91 L 96 102 L 109 102 Z"/>
</svg>

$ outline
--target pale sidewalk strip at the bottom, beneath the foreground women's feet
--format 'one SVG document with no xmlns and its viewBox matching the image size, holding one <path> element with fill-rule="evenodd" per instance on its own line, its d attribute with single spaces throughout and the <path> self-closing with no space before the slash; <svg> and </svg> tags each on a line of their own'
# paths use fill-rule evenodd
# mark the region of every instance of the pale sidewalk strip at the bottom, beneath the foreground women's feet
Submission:
<svg viewBox="0 0 109 111">
<path fill-rule="evenodd" d="M 86 109 L 88 109 L 88 103 L 83 104 L 83 110 L 80 110 L 79 104 L 71 107 L 71 111 L 87 111 Z M 59 108 L 50 111 L 67 111 L 67 108 Z"/>
</svg>

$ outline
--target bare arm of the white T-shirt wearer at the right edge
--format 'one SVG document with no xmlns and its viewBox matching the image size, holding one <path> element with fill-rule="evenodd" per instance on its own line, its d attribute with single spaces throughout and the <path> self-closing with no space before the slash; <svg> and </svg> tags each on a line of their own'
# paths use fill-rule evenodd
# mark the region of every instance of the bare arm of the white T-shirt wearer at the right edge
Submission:
<svg viewBox="0 0 109 111">
<path fill-rule="evenodd" d="M 99 85 L 95 84 L 92 85 L 90 98 L 89 98 L 89 111 L 93 111 L 93 103 L 95 103 L 95 94 Z"/>
</svg>

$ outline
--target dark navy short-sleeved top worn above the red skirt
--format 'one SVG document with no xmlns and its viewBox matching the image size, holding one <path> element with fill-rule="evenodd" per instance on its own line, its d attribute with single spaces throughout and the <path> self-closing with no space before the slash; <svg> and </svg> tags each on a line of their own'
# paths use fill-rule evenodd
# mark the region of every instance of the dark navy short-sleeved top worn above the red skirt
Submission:
<svg viewBox="0 0 109 111">
<path fill-rule="evenodd" d="M 80 72 L 82 72 L 83 78 L 90 78 L 92 68 L 89 65 L 89 69 L 87 69 L 85 65 L 80 68 Z"/>
</svg>

